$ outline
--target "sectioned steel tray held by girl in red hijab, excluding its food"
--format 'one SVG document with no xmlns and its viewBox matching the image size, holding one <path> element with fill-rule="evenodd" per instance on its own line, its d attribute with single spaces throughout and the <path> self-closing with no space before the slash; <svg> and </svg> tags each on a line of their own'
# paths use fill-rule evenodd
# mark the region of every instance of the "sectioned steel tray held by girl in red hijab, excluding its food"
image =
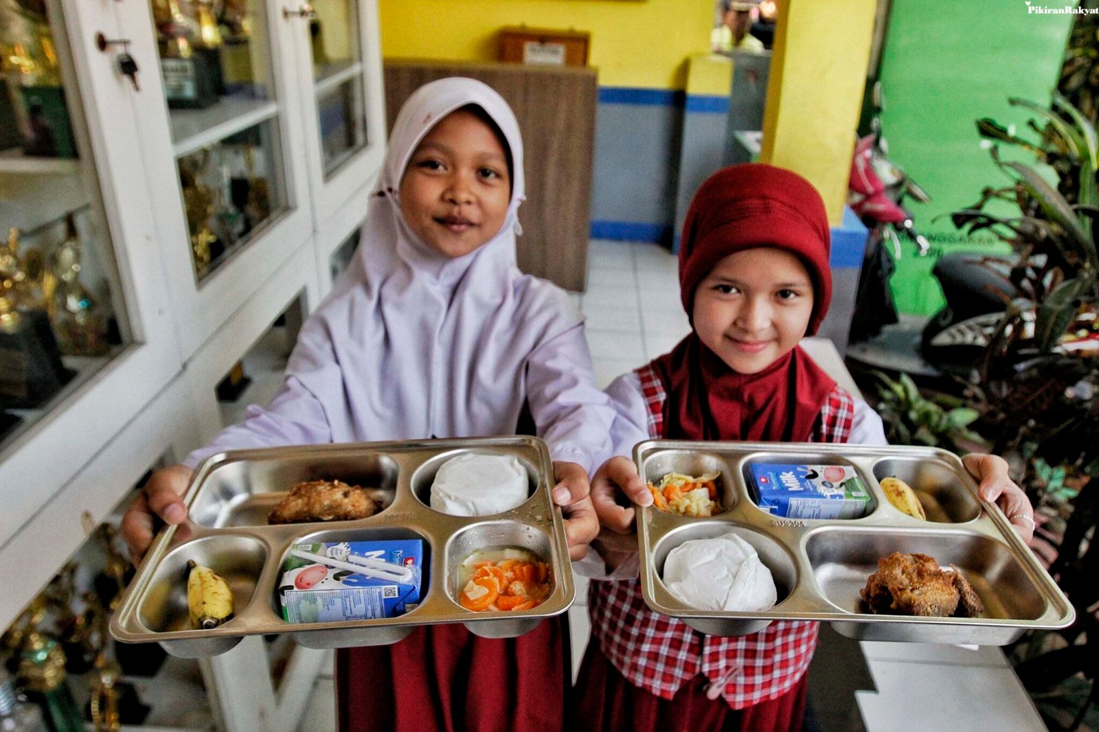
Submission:
<svg viewBox="0 0 1099 732">
<path fill-rule="evenodd" d="M 645 602 L 712 635 L 746 635 L 775 620 L 832 623 L 843 635 L 870 641 L 1006 645 L 1031 629 L 1064 628 L 1075 617 L 1050 575 L 952 453 L 932 447 L 819 443 L 718 443 L 653 440 L 634 447 L 642 479 L 667 473 L 718 473 L 723 511 L 688 518 L 646 507 L 637 522 Z M 753 500 L 758 463 L 851 466 L 870 492 L 859 519 L 788 519 Z M 878 481 L 897 477 L 915 491 L 928 520 L 896 509 Z M 778 602 L 761 612 L 703 611 L 673 596 L 662 580 L 674 547 L 733 531 L 770 569 Z M 956 565 L 980 597 L 977 618 L 917 618 L 864 612 L 858 591 L 892 552 L 922 553 Z"/>
</svg>

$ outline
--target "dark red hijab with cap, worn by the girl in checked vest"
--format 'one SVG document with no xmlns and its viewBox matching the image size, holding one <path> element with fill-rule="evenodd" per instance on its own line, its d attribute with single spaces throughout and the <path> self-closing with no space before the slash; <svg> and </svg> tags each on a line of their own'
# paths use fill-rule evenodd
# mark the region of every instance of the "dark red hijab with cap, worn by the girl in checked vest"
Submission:
<svg viewBox="0 0 1099 732">
<path fill-rule="evenodd" d="M 801 176 L 769 165 L 736 165 L 695 193 L 679 248 L 679 289 L 687 317 L 695 290 L 723 258 L 770 246 L 797 255 L 813 282 L 807 335 L 832 297 L 828 214 Z M 673 440 L 808 442 L 835 381 L 801 347 L 758 374 L 739 374 L 693 332 L 653 362 L 664 384 L 664 436 Z"/>
</svg>

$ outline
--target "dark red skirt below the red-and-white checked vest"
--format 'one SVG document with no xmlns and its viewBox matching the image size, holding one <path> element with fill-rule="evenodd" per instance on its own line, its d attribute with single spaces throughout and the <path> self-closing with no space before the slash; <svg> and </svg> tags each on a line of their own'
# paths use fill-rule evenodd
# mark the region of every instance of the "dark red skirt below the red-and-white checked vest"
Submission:
<svg viewBox="0 0 1099 732">
<path fill-rule="evenodd" d="M 706 696 L 709 679 L 699 674 L 671 699 L 637 688 L 619 673 L 592 639 L 576 680 L 573 724 L 578 730 L 631 732 L 798 732 L 806 713 L 809 674 L 789 691 L 745 709 L 731 709 Z"/>
</svg>

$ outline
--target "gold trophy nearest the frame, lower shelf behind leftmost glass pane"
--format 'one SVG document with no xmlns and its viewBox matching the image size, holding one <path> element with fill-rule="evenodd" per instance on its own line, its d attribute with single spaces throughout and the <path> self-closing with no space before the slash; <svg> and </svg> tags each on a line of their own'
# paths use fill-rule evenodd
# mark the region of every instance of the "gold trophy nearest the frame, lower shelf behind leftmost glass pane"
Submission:
<svg viewBox="0 0 1099 732">
<path fill-rule="evenodd" d="M 102 356 L 108 352 L 106 320 L 96 298 L 80 282 L 80 236 L 71 213 L 65 220 L 65 240 L 49 257 L 44 287 L 49 320 L 69 356 Z"/>
</svg>

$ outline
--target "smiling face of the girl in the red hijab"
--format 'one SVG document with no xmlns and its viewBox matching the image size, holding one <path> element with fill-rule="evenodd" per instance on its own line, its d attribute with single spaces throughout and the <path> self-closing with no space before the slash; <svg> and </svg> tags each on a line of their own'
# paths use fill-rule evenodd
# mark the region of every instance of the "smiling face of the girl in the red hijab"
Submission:
<svg viewBox="0 0 1099 732">
<path fill-rule="evenodd" d="M 695 332 L 739 374 L 757 374 L 804 336 L 813 285 L 801 260 L 782 249 L 730 254 L 695 291 Z"/>
</svg>

